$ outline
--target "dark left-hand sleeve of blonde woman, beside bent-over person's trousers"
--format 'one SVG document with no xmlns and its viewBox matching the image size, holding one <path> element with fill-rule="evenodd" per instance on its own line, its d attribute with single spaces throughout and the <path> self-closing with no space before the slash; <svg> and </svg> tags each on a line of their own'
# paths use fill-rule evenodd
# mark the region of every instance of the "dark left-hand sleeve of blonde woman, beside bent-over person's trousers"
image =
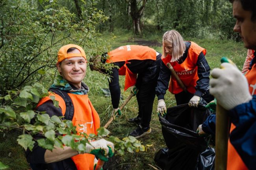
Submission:
<svg viewBox="0 0 256 170">
<path fill-rule="evenodd" d="M 160 74 L 156 86 L 156 95 L 158 96 L 158 100 L 164 99 L 164 95 L 169 86 L 170 78 L 171 71 L 167 68 L 167 66 L 165 66 L 163 61 L 161 61 Z"/>
</svg>

